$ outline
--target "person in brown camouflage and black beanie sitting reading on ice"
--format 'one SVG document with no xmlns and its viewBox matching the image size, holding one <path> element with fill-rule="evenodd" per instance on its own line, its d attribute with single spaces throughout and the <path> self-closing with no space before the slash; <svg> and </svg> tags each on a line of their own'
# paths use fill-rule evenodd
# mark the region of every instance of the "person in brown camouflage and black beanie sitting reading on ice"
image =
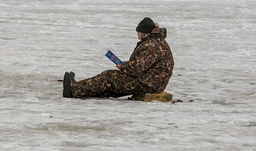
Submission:
<svg viewBox="0 0 256 151">
<path fill-rule="evenodd" d="M 159 93 L 165 90 L 174 66 L 172 52 L 165 41 L 166 29 L 144 18 L 136 28 L 140 42 L 129 61 L 116 65 L 97 76 L 75 81 L 73 72 L 63 79 L 63 97 L 113 97 Z"/>
</svg>

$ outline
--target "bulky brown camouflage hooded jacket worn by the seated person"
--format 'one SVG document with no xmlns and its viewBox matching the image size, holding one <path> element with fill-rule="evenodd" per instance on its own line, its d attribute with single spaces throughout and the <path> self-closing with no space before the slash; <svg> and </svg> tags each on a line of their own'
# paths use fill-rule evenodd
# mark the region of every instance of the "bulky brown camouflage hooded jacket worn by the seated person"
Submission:
<svg viewBox="0 0 256 151">
<path fill-rule="evenodd" d="M 141 34 L 129 61 L 121 64 L 121 71 L 136 77 L 150 92 L 163 92 L 172 76 L 174 62 L 166 34 L 166 28 L 159 27 Z"/>
</svg>

